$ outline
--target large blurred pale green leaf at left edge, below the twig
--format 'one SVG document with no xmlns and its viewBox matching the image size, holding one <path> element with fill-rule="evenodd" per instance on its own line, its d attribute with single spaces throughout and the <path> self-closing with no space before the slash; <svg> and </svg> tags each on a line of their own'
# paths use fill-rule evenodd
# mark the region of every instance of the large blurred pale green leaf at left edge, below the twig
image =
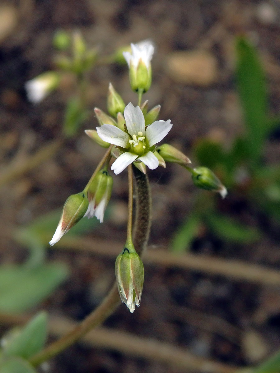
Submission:
<svg viewBox="0 0 280 373">
<path fill-rule="evenodd" d="M 0 267 L 0 310 L 22 312 L 48 297 L 68 276 L 62 263 L 49 263 L 40 267 Z"/>
</svg>

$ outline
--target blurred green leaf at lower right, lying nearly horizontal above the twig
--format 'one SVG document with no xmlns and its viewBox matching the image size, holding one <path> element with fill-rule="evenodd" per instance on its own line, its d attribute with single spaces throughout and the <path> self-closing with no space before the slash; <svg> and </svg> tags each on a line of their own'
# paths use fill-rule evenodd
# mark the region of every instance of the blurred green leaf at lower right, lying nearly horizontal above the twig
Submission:
<svg viewBox="0 0 280 373">
<path fill-rule="evenodd" d="M 225 215 L 208 214 L 205 216 L 205 220 L 209 228 L 225 241 L 245 244 L 254 242 L 261 236 L 257 229 L 244 226 Z"/>
</svg>

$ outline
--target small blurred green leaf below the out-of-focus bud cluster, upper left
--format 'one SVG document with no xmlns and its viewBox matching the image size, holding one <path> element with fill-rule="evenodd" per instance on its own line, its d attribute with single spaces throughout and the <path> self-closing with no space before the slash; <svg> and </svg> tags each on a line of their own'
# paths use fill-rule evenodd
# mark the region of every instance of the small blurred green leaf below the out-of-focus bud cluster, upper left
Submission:
<svg viewBox="0 0 280 373">
<path fill-rule="evenodd" d="M 77 134 L 81 124 L 87 119 L 88 113 L 83 108 L 80 99 L 72 98 L 68 101 L 63 123 L 63 132 L 66 137 L 73 137 Z"/>
</svg>

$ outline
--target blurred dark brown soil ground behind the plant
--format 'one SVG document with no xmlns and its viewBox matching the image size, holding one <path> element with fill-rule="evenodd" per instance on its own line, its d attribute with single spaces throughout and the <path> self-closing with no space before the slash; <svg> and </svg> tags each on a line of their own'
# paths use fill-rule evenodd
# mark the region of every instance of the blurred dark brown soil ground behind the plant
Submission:
<svg viewBox="0 0 280 373">
<path fill-rule="evenodd" d="M 196 164 L 192 149 L 201 137 L 215 138 L 228 147 L 243 131 L 234 85 L 234 38 L 245 33 L 255 43 L 264 63 L 272 113 L 280 112 L 280 6 L 278 1 L 112 1 L 18 0 L 0 4 L 6 12 L 0 35 L 0 151 L 3 167 L 16 155 L 34 153 L 59 138 L 63 109 L 71 81 L 41 104 L 28 103 L 24 83 L 52 68 L 52 37 L 57 29 L 79 29 L 90 46 L 102 53 L 151 38 L 156 44 L 153 83 L 144 99 L 150 107 L 161 104 L 160 119 L 171 119 L 168 142 Z M 7 10 L 9 9 L 9 10 Z M 7 13 L 8 12 L 8 13 Z M 10 13 L 9 13 L 10 12 Z M 4 21 L 3 21 L 4 23 Z M 5 28 L 6 27 L 6 28 Z M 0 26 L 1 29 L 1 26 Z M 6 30 L 6 31 L 5 31 Z M 174 51 L 203 51 L 196 66 L 174 66 Z M 205 54 L 206 53 L 206 54 Z M 214 59 L 214 65 L 212 61 Z M 187 62 L 186 62 L 187 63 Z M 195 63 L 196 65 L 196 63 Z M 210 66 L 210 67 L 209 67 Z M 178 78 L 178 76 L 180 78 Z M 185 79 L 185 80 L 183 80 Z M 188 80 L 189 79 L 189 80 Z M 136 104 L 126 66 L 98 66 L 89 74 L 88 107 L 106 110 L 111 81 L 126 102 Z M 69 88 L 70 87 L 70 88 Z M 26 250 L 10 239 L 13 226 L 24 225 L 47 211 L 62 207 L 68 195 L 83 189 L 103 150 L 92 144 L 84 129 L 95 128 L 92 114 L 77 139 L 68 141 L 57 155 L 1 188 L 0 256 L 3 263 L 19 262 Z M 279 134 L 278 134 L 279 135 Z M 265 148 L 268 163 L 279 162 L 277 133 Z M 106 247 L 126 235 L 127 182 L 114 176 L 112 217 L 92 234 Z M 192 211 L 196 190 L 187 172 L 168 164 L 149 172 L 153 194 L 150 250 L 168 244 L 175 230 Z M 277 269 L 280 266 L 279 225 L 270 222 L 246 196 L 229 191 L 221 211 L 249 225 L 261 226 L 261 241 L 237 245 L 221 241 L 201 227 L 190 252 L 239 259 Z M 121 250 L 121 247 L 119 248 Z M 38 309 L 75 320 L 86 316 L 106 294 L 114 280 L 114 259 L 87 251 L 50 250 L 48 257 L 71 267 L 71 276 Z M 133 335 L 157 339 L 193 354 L 234 366 L 256 364 L 280 345 L 279 288 L 234 281 L 200 271 L 149 264 L 145 266 L 141 307 L 130 314 L 124 305 L 105 326 Z M 227 326 L 224 326 L 227 322 Z M 255 355 L 254 355 L 255 352 Z M 52 373 L 192 372 L 157 360 L 134 357 L 108 348 L 72 346 L 47 367 Z"/>
</svg>

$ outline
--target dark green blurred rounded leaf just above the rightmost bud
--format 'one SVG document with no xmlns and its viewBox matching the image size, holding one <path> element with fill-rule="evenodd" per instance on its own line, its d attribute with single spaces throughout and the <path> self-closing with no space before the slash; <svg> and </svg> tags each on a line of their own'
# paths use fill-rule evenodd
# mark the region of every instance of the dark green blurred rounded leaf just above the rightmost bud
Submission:
<svg viewBox="0 0 280 373">
<path fill-rule="evenodd" d="M 210 169 L 214 168 L 219 163 L 223 163 L 225 155 L 221 144 L 218 142 L 202 139 L 195 145 L 195 156 L 199 163 Z"/>
</svg>

